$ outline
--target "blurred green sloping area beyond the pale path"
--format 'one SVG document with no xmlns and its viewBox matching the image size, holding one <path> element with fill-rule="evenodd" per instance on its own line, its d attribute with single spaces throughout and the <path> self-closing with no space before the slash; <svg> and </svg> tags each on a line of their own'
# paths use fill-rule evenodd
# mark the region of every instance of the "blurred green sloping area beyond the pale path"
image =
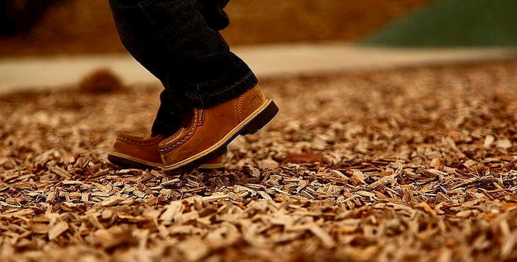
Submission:
<svg viewBox="0 0 517 262">
<path fill-rule="evenodd" d="M 399 47 L 517 46 L 517 0 L 441 0 L 360 41 Z"/>
</svg>

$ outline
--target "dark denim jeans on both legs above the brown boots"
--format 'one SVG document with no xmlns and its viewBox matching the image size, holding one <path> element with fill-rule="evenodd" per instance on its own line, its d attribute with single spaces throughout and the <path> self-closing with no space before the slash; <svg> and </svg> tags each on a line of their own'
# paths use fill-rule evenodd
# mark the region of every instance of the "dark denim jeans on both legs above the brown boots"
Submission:
<svg viewBox="0 0 517 262">
<path fill-rule="evenodd" d="M 184 108 L 216 106 L 257 84 L 217 32 L 229 23 L 228 1 L 110 0 L 123 45 L 165 86 L 154 134 L 176 132 Z"/>
</svg>

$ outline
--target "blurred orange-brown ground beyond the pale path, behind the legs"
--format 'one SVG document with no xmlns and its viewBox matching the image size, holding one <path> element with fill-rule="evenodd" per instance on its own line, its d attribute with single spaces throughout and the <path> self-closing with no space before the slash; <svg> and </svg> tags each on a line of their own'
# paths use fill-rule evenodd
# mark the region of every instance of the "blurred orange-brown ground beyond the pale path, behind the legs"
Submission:
<svg viewBox="0 0 517 262">
<path fill-rule="evenodd" d="M 3 35 L 0 56 L 123 51 L 106 0 L 47 0 L 35 7 L 32 0 L 7 1 L 18 10 L 32 7 L 22 22 L 35 21 Z M 226 9 L 232 23 L 222 33 L 231 45 L 353 41 L 430 1 L 233 0 Z"/>
</svg>

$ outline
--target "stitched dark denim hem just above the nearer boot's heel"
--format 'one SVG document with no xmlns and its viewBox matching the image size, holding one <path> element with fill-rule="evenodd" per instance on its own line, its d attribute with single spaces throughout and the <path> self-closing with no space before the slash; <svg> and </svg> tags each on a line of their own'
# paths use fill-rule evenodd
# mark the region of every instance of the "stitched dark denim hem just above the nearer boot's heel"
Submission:
<svg viewBox="0 0 517 262">
<path fill-rule="evenodd" d="M 246 74 L 246 76 L 232 86 L 225 86 L 224 88 L 216 89 L 210 93 L 201 93 L 200 96 L 189 96 L 186 94 L 185 98 L 188 105 L 194 108 L 210 108 L 237 98 L 257 84 L 258 79 L 256 79 L 255 74 L 250 71 L 249 74 Z"/>
</svg>

